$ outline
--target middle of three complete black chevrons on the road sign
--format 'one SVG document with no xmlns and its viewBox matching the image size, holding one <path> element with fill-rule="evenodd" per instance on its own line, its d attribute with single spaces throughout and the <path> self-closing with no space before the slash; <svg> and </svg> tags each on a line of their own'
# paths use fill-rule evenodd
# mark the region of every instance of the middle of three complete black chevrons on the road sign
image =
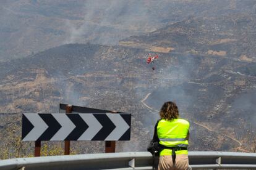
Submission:
<svg viewBox="0 0 256 170">
<path fill-rule="evenodd" d="M 89 127 L 79 114 L 67 114 L 72 123 L 75 124 L 75 129 L 66 137 L 65 140 L 77 140 Z"/>
</svg>

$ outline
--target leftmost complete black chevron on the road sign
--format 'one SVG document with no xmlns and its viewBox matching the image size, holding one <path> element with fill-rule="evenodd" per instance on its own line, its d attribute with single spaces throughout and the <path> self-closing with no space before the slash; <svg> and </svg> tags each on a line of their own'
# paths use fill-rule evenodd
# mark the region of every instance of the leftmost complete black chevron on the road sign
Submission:
<svg viewBox="0 0 256 170">
<path fill-rule="evenodd" d="M 61 124 L 51 114 L 38 114 L 49 126 L 37 140 L 50 140 L 61 129 Z"/>
</svg>

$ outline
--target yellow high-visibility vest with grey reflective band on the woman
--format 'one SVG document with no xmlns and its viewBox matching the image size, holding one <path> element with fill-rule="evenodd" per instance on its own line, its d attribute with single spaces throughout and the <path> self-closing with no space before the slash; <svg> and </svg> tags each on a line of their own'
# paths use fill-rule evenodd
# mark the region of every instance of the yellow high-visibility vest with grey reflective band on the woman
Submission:
<svg viewBox="0 0 256 170">
<path fill-rule="evenodd" d="M 189 141 L 186 139 L 189 132 L 189 121 L 185 119 L 161 119 L 157 126 L 159 144 L 166 147 L 188 147 Z M 187 154 L 187 150 L 177 150 L 176 154 Z M 160 156 L 172 155 L 171 149 L 164 149 Z"/>
</svg>

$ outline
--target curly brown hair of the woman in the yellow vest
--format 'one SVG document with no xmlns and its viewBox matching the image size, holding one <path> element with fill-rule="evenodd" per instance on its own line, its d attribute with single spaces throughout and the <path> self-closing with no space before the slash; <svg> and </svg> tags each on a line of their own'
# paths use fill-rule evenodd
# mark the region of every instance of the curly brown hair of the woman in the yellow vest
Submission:
<svg viewBox="0 0 256 170">
<path fill-rule="evenodd" d="M 179 117 L 179 110 L 176 103 L 165 102 L 159 112 L 161 119 L 177 119 Z"/>
</svg>

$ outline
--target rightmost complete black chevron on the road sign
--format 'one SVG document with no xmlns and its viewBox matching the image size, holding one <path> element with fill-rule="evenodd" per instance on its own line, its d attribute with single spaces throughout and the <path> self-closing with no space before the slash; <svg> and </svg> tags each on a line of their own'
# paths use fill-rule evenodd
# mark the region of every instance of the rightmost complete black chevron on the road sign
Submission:
<svg viewBox="0 0 256 170">
<path fill-rule="evenodd" d="M 106 137 L 109 136 L 109 134 L 116 128 L 114 123 L 111 121 L 111 119 L 108 118 L 106 114 L 93 114 L 95 118 L 100 122 L 100 124 L 103 126 L 100 131 L 96 134 L 95 137 L 93 137 L 92 140 L 105 140 Z"/>
</svg>

